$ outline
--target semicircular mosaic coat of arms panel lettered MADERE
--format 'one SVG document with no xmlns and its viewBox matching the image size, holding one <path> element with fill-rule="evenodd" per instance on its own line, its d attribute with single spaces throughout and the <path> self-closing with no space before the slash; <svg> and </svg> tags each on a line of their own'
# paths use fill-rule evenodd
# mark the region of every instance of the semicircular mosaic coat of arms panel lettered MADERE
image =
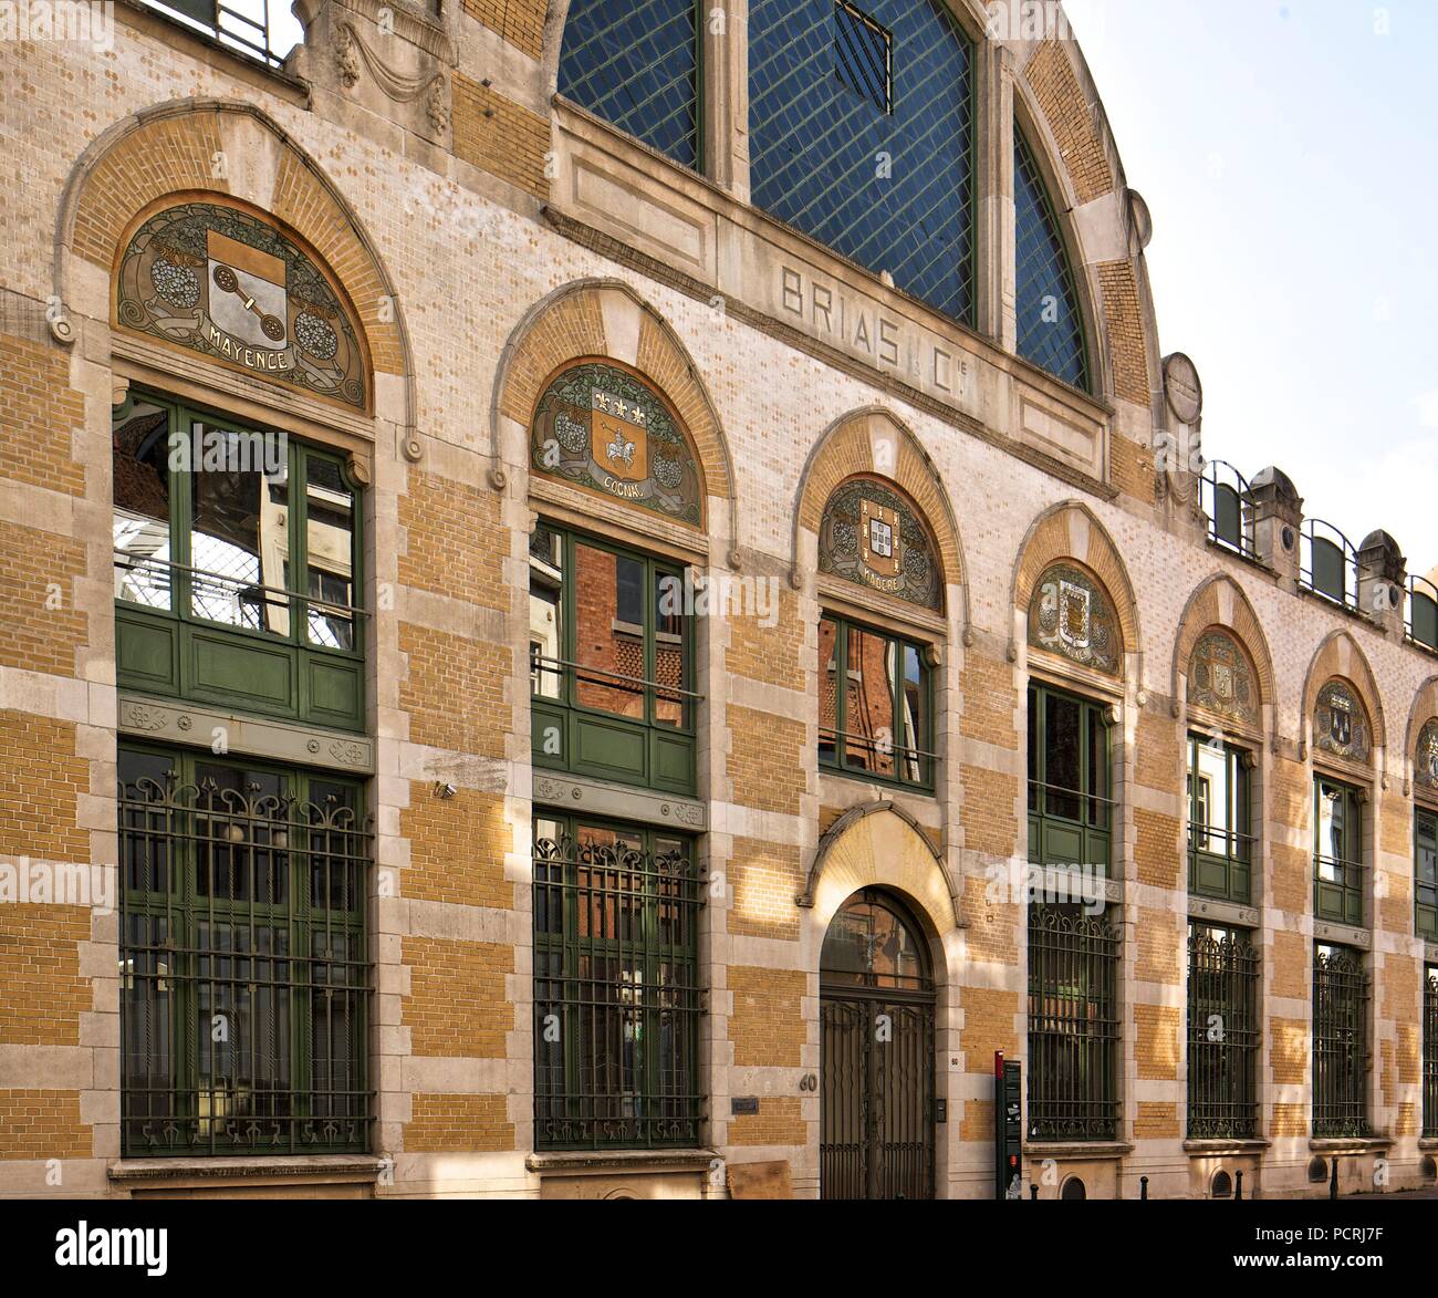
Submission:
<svg viewBox="0 0 1438 1298">
<path fill-rule="evenodd" d="M 907 501 L 874 478 L 840 484 L 818 530 L 818 570 L 940 612 L 940 570 Z"/>
</svg>

